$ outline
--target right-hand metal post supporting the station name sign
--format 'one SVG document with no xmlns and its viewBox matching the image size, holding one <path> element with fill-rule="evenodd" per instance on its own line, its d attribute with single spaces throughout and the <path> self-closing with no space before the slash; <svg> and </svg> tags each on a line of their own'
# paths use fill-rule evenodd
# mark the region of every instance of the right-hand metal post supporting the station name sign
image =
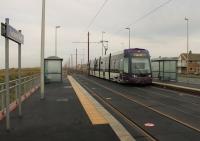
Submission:
<svg viewBox="0 0 200 141">
<path fill-rule="evenodd" d="M 19 30 L 21 33 L 21 30 Z M 22 116 L 22 106 L 21 106 L 21 44 L 18 44 L 18 104 L 19 104 L 19 117 Z"/>
</svg>

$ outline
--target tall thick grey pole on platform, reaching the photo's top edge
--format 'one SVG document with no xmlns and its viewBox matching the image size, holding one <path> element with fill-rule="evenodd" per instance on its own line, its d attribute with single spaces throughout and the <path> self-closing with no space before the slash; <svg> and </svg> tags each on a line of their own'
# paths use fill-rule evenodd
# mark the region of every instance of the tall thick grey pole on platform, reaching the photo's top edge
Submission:
<svg viewBox="0 0 200 141">
<path fill-rule="evenodd" d="M 42 0 L 42 30 L 41 30 L 41 99 L 44 99 L 44 47 L 45 47 L 45 0 Z"/>
</svg>

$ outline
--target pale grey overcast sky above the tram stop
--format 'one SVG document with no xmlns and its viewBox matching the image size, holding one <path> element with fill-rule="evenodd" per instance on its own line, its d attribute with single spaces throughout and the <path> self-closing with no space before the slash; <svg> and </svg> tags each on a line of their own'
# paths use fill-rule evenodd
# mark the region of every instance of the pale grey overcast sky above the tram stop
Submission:
<svg viewBox="0 0 200 141">
<path fill-rule="evenodd" d="M 58 56 L 64 63 L 70 54 L 78 49 L 78 62 L 87 60 L 87 44 L 73 44 L 87 41 L 87 31 L 91 41 L 109 41 L 108 52 L 128 48 L 128 31 L 124 28 L 134 23 L 149 11 L 167 0 L 108 0 L 101 13 L 87 29 L 92 18 L 104 0 L 46 0 L 46 46 L 45 56 L 54 55 L 55 26 L 58 30 Z M 22 66 L 40 65 L 41 42 L 41 2 L 42 0 L 0 0 L 0 21 L 10 18 L 10 24 L 21 29 L 25 36 L 22 45 Z M 131 28 L 131 47 L 145 48 L 152 58 L 158 56 L 179 56 L 186 52 L 186 21 L 189 18 L 190 50 L 200 53 L 200 1 L 172 0 L 170 3 L 140 20 Z M 0 37 L 0 69 L 4 68 L 4 38 Z M 101 55 L 101 44 L 91 44 L 91 58 Z M 74 56 L 75 60 L 75 56 Z M 17 66 L 17 45 L 10 42 L 10 66 Z"/>
</svg>

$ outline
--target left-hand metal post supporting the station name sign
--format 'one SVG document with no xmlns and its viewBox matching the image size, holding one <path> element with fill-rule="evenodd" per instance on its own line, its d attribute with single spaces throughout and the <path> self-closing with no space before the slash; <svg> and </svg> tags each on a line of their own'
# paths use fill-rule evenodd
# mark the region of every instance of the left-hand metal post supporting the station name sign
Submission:
<svg viewBox="0 0 200 141">
<path fill-rule="evenodd" d="M 6 25 L 9 19 L 6 18 Z M 6 130 L 10 130 L 10 91 L 9 91 L 9 39 L 5 38 L 5 82 L 6 82 Z"/>
</svg>

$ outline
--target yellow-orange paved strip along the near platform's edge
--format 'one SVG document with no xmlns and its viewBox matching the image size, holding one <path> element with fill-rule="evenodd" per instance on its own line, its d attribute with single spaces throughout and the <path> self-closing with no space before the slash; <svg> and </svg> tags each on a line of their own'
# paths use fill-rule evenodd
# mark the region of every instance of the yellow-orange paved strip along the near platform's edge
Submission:
<svg viewBox="0 0 200 141">
<path fill-rule="evenodd" d="M 74 80 L 71 76 L 68 76 L 68 80 L 70 81 L 79 101 L 81 102 L 92 124 L 108 124 L 108 121 L 101 115 L 100 112 L 98 112 L 94 104 L 84 94 L 78 82 L 76 82 L 76 80 Z"/>
</svg>

